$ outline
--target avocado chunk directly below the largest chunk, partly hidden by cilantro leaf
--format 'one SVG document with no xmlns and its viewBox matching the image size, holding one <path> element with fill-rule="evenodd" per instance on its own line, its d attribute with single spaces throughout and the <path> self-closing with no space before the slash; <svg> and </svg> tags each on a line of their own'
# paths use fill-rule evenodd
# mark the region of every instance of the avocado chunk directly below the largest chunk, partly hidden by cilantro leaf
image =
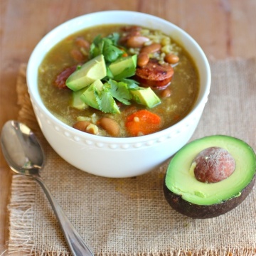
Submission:
<svg viewBox="0 0 256 256">
<path fill-rule="evenodd" d="M 102 88 L 103 88 L 102 81 L 100 79 L 97 79 L 95 80 L 95 82 L 92 82 L 92 84 L 85 89 L 85 91 L 80 96 L 80 99 L 90 107 L 100 110 L 100 106 L 99 106 L 99 103 L 97 102 L 97 98 L 95 94 L 99 95 Z"/>
</svg>

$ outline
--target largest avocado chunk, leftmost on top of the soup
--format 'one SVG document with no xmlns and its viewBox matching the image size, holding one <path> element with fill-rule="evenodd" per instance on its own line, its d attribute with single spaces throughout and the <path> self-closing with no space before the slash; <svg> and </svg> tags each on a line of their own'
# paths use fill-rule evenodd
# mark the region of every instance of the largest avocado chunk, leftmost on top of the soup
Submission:
<svg viewBox="0 0 256 256">
<path fill-rule="evenodd" d="M 98 55 L 87 61 L 78 70 L 75 70 L 68 79 L 66 85 L 73 91 L 87 87 L 97 79 L 105 78 L 107 75 L 106 64 L 103 55 Z"/>
</svg>

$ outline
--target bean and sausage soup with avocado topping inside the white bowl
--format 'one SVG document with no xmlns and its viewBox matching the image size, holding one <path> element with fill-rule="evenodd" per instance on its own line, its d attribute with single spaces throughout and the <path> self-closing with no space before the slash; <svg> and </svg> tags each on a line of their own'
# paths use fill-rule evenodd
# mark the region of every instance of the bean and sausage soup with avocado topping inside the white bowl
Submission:
<svg viewBox="0 0 256 256">
<path fill-rule="evenodd" d="M 100 71 L 93 73 L 91 66 L 100 61 L 106 73 L 99 79 L 85 87 L 70 85 L 82 72 L 97 76 Z M 60 41 L 41 63 L 38 87 L 48 110 L 65 124 L 99 136 L 136 137 L 183 119 L 196 101 L 199 78 L 190 55 L 172 38 L 118 24 L 87 28 Z"/>
</svg>

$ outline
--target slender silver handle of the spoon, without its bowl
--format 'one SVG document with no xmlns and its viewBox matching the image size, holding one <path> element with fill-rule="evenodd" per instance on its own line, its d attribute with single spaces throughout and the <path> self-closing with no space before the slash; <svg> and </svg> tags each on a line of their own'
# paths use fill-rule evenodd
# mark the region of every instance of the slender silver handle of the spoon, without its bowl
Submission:
<svg viewBox="0 0 256 256">
<path fill-rule="evenodd" d="M 33 176 L 33 178 L 38 181 L 38 183 L 43 188 L 43 191 L 46 193 L 46 196 L 50 202 L 50 205 L 53 208 L 53 211 L 60 223 L 60 228 L 63 230 L 63 235 L 65 237 L 66 242 L 68 243 L 68 247 L 74 256 L 92 256 L 94 255 L 90 248 L 85 245 L 85 242 L 82 240 L 81 236 L 78 234 L 78 231 L 75 230 L 68 217 L 63 212 L 60 205 L 55 200 L 55 198 L 50 193 L 49 189 L 43 182 L 40 176 Z"/>
</svg>

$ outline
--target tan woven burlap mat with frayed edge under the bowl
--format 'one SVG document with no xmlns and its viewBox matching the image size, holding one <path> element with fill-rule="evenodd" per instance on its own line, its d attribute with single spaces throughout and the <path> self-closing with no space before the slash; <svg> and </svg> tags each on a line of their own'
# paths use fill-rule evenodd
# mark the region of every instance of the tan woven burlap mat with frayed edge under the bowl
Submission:
<svg viewBox="0 0 256 256">
<path fill-rule="evenodd" d="M 256 59 L 210 64 L 212 87 L 192 139 L 228 134 L 256 149 Z M 218 218 L 193 220 L 169 207 L 162 191 L 166 165 L 137 178 L 102 178 L 73 168 L 43 139 L 18 75 L 19 119 L 46 151 L 43 179 L 95 255 L 256 255 L 256 188 Z M 9 253 L 70 255 L 41 188 L 21 176 L 11 186 Z"/>
</svg>

